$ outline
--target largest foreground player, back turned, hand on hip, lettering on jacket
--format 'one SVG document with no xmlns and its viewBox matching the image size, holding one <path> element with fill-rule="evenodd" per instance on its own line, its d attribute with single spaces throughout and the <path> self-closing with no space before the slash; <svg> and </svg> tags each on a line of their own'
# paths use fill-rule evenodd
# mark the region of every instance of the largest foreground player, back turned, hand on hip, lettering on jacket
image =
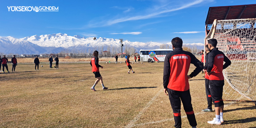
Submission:
<svg viewBox="0 0 256 128">
<path fill-rule="evenodd" d="M 163 67 L 163 87 L 165 95 L 169 96 L 173 109 L 175 127 L 181 128 L 181 102 L 184 106 L 189 124 L 196 128 L 195 114 L 191 104 L 189 79 L 195 77 L 203 69 L 202 63 L 190 52 L 183 51 L 182 39 L 179 37 L 172 40 L 173 52 L 165 57 Z M 195 70 L 188 75 L 190 64 L 195 65 Z M 168 91 L 168 94 L 166 93 Z M 167 110 L 168 112 L 169 110 Z"/>
</svg>

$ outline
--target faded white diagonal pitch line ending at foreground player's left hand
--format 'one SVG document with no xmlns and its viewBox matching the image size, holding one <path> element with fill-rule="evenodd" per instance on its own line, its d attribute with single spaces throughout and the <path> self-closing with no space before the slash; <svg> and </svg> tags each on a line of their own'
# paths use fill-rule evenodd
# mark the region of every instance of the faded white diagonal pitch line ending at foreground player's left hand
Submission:
<svg viewBox="0 0 256 128">
<path fill-rule="evenodd" d="M 146 111 L 150 105 L 157 99 L 157 97 L 159 96 L 159 93 L 160 92 L 163 92 L 163 89 L 160 89 L 159 92 L 157 93 L 157 95 L 155 95 L 151 100 L 150 102 L 147 103 L 147 105 L 138 113 L 138 115 L 130 121 L 130 123 L 128 125 L 126 125 L 125 128 L 131 128 L 131 127 L 134 127 L 134 123 L 139 120 L 141 118 L 141 115 L 144 113 L 144 111 Z"/>
</svg>

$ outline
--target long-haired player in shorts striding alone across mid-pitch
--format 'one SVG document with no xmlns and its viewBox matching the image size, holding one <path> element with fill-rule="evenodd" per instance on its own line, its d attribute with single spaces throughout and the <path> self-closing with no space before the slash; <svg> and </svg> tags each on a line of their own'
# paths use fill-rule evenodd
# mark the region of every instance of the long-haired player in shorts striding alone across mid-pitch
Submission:
<svg viewBox="0 0 256 128">
<path fill-rule="evenodd" d="M 99 54 L 98 51 L 94 51 L 93 52 L 94 57 L 91 59 L 91 62 L 90 62 L 90 65 L 93 67 L 92 72 L 93 72 L 93 74 L 95 74 L 95 78 L 97 78 L 93 87 L 91 87 L 91 90 L 93 90 L 93 91 L 96 91 L 95 86 L 99 81 L 102 85 L 103 90 L 108 89 L 107 87 L 104 86 L 103 81 L 102 81 L 102 76 L 99 74 L 99 67 L 101 67 L 101 68 L 103 68 L 103 67 L 99 65 L 98 54 Z"/>
</svg>

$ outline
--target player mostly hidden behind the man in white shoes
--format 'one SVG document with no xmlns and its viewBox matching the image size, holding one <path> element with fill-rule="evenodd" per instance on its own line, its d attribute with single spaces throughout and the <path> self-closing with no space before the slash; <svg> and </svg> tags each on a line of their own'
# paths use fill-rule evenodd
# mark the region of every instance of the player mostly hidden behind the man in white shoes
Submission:
<svg viewBox="0 0 256 128">
<path fill-rule="evenodd" d="M 210 92 L 210 86 L 209 86 L 209 76 L 206 74 L 207 73 L 207 66 L 208 66 L 208 54 L 210 50 L 208 48 L 208 45 L 205 46 L 205 66 L 203 68 L 203 71 L 205 72 L 205 93 L 207 97 L 207 104 L 208 107 L 207 109 L 204 109 L 202 111 L 208 112 L 212 111 L 212 98 L 211 98 L 211 92 Z"/>
</svg>

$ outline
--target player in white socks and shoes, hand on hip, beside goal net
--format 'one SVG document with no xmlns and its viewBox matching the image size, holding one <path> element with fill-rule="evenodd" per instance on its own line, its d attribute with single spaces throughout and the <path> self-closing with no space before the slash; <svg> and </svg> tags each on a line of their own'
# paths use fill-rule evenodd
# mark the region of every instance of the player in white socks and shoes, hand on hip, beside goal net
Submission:
<svg viewBox="0 0 256 128">
<path fill-rule="evenodd" d="M 224 55 L 223 52 L 219 51 L 216 39 L 208 40 L 208 47 L 210 53 L 208 54 L 208 67 L 207 75 L 209 75 L 209 85 L 211 98 L 214 101 L 215 116 L 214 120 L 208 121 L 209 124 L 221 125 L 223 120 L 223 108 L 224 102 L 222 99 L 224 77 L 222 70 L 231 65 L 231 61 Z M 223 63 L 225 64 L 223 65 Z"/>
</svg>

